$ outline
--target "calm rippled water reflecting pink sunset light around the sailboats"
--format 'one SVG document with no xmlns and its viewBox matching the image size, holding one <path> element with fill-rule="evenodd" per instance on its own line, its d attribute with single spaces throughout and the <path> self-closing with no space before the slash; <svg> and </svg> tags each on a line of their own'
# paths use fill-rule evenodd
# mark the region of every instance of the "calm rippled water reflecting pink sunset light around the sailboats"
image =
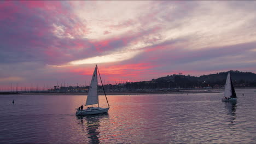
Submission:
<svg viewBox="0 0 256 144">
<path fill-rule="evenodd" d="M 107 114 L 85 117 L 74 115 L 83 95 L 0 95 L 0 143 L 256 143 L 255 90 L 237 89 L 237 103 L 223 93 L 109 95 Z"/>
</svg>

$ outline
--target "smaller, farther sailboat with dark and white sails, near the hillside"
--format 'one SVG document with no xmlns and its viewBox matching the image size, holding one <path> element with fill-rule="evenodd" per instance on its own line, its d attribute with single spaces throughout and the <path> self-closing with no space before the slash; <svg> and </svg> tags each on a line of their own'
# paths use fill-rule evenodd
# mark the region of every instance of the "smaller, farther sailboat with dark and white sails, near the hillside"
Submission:
<svg viewBox="0 0 256 144">
<path fill-rule="evenodd" d="M 226 77 L 224 98 L 222 99 L 222 101 L 236 101 L 236 99 L 237 97 L 235 88 L 233 86 L 230 73 L 228 73 L 228 76 Z"/>
</svg>

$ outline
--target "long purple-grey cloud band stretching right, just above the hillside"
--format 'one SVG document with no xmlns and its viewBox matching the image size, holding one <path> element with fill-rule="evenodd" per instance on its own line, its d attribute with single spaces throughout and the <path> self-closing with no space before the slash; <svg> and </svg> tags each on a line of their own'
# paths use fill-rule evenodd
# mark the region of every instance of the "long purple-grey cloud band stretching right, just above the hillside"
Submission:
<svg viewBox="0 0 256 144">
<path fill-rule="evenodd" d="M 185 40 L 185 39 L 184 39 Z M 125 63 L 148 63 L 156 65 L 148 69 L 167 73 L 168 71 L 188 71 L 188 74 L 198 75 L 202 71 L 225 71 L 230 69 L 248 69 L 256 67 L 254 59 L 256 41 L 228 46 L 205 47 L 204 49 L 184 49 L 178 45 L 183 40 L 169 40 L 144 49 L 155 49 L 148 51 L 147 55 L 142 53 L 129 59 Z M 232 58 L 234 57 L 234 58 Z M 190 72 L 189 72 L 190 71 Z M 194 72 L 193 72 L 194 71 Z"/>
</svg>

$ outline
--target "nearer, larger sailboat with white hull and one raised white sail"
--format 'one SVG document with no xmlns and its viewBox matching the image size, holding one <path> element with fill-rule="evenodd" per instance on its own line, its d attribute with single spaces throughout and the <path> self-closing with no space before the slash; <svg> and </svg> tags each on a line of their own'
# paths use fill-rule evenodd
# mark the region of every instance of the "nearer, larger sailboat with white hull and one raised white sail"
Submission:
<svg viewBox="0 0 256 144">
<path fill-rule="evenodd" d="M 102 108 L 99 106 L 99 103 L 98 103 L 99 102 L 98 101 L 98 75 L 100 76 L 100 80 L 101 80 L 101 75 L 100 75 L 100 71 L 98 71 L 98 75 L 97 75 L 97 70 L 98 70 L 98 67 L 96 65 L 94 74 L 92 74 L 91 84 L 90 84 L 88 96 L 85 103 L 85 107 L 88 107 L 88 108 L 84 110 L 80 109 L 80 107 L 78 109 L 75 109 L 76 110 L 75 115 L 93 115 L 98 113 L 105 113 L 105 112 L 108 112 L 109 110 L 109 104 L 107 108 Z M 101 80 L 101 84 L 103 87 L 102 80 Z M 108 99 L 107 99 L 104 87 L 103 87 L 103 91 L 108 103 Z M 90 106 L 95 104 L 98 104 L 98 106 L 97 107 Z"/>
</svg>

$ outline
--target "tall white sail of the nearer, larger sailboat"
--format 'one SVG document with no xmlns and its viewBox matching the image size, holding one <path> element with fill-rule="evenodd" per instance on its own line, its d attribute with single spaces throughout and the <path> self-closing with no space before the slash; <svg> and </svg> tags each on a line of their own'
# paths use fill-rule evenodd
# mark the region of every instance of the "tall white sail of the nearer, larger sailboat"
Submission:
<svg viewBox="0 0 256 144">
<path fill-rule="evenodd" d="M 93 104 L 98 104 L 98 91 L 97 91 L 97 65 L 94 70 L 94 74 L 92 74 L 91 78 L 91 85 L 89 88 L 87 100 L 85 105 L 93 105 Z"/>
</svg>

